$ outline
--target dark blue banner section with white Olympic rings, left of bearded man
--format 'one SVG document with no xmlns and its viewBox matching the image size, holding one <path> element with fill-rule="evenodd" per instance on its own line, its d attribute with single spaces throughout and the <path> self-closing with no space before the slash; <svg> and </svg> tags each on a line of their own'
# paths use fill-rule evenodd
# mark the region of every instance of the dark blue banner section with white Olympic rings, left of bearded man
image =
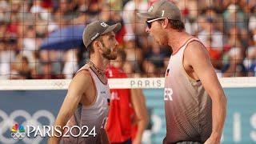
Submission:
<svg viewBox="0 0 256 144">
<path fill-rule="evenodd" d="M 53 125 L 65 96 L 66 90 L 0 91 L 0 143 L 46 143 L 39 136 L 15 140 L 11 129 L 15 124 L 25 130 L 27 125 Z"/>
</svg>

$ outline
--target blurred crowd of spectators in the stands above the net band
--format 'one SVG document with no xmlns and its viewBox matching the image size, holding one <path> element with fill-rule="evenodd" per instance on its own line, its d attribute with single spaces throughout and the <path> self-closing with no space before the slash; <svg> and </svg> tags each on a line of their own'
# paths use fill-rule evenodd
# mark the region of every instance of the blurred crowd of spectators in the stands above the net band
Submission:
<svg viewBox="0 0 256 144">
<path fill-rule="evenodd" d="M 122 23 L 116 37 L 130 77 L 163 77 L 172 51 L 154 42 L 136 18 L 154 1 L 1 0 L 0 78 L 72 78 L 88 59 L 85 47 L 41 50 L 42 43 L 54 31 L 97 19 Z M 256 0 L 170 1 L 180 8 L 186 32 L 209 50 L 218 77 L 256 75 Z"/>
</svg>

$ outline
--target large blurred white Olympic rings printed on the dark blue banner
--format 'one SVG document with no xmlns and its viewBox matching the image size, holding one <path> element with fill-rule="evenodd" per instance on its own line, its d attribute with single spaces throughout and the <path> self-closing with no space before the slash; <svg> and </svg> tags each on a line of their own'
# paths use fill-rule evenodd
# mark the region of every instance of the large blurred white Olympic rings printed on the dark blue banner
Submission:
<svg viewBox="0 0 256 144">
<path fill-rule="evenodd" d="M 24 122 L 17 122 L 18 118 L 25 119 Z M 30 115 L 26 110 L 14 110 L 10 115 L 5 111 L 0 110 L 0 143 L 14 143 L 17 139 L 22 139 L 25 143 L 39 143 L 43 138 L 27 138 L 25 133 L 9 133 L 11 137 L 7 137 L 6 133 L 10 132 L 10 128 L 14 123 L 20 123 L 23 126 L 41 126 L 39 118 L 47 119 L 49 122 L 47 125 L 52 126 L 54 124 L 54 114 L 51 114 L 48 110 L 38 110 L 33 115 Z M 2 121 L 1 121 L 2 120 Z"/>
</svg>

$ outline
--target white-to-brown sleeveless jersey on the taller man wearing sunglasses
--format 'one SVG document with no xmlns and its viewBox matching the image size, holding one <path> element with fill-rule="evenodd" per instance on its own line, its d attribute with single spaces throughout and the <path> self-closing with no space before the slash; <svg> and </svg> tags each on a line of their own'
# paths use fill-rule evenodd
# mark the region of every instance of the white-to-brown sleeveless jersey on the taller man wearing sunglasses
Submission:
<svg viewBox="0 0 256 144">
<path fill-rule="evenodd" d="M 198 38 L 190 38 L 170 57 L 165 76 L 166 143 L 205 142 L 212 130 L 210 96 L 200 81 L 186 73 L 183 55 L 186 46 Z"/>
</svg>

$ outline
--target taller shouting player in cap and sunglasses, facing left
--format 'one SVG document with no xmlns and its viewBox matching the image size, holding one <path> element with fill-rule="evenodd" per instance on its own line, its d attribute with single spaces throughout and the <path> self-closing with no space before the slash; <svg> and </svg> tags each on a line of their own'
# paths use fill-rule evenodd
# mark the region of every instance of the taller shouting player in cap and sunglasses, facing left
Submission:
<svg viewBox="0 0 256 144">
<path fill-rule="evenodd" d="M 220 143 L 226 97 L 206 47 L 186 33 L 180 10 L 169 1 L 154 2 L 138 17 L 156 42 L 173 51 L 165 76 L 163 143 Z"/>
</svg>

